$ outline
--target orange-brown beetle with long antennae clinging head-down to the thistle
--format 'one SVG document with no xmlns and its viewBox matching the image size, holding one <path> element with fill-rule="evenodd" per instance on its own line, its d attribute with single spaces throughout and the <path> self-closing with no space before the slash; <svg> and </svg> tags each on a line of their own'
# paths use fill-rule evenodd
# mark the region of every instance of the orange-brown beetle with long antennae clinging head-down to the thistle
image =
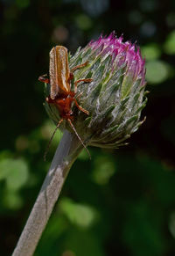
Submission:
<svg viewBox="0 0 175 256">
<path fill-rule="evenodd" d="M 81 69 L 87 64 L 88 62 L 82 63 L 81 65 L 75 66 L 73 69 L 70 70 L 68 64 L 67 49 L 63 46 L 56 46 L 52 48 L 50 52 L 49 78 L 46 78 L 46 75 L 38 77 L 39 81 L 51 85 L 50 96 L 47 97 L 45 100 L 48 104 L 53 104 L 58 108 L 59 116 L 61 118 L 52 134 L 50 142 L 48 143 L 47 150 L 45 151 L 45 156 L 57 128 L 59 128 L 59 125 L 64 120 L 69 122 L 71 128 L 73 128 L 74 133 L 77 135 L 82 145 L 87 150 L 85 144 L 81 140 L 80 135 L 78 135 L 76 129 L 73 126 L 72 107 L 74 103 L 74 105 L 77 106 L 78 109 L 81 110 L 81 112 L 89 114 L 88 110 L 84 109 L 78 104 L 77 100 L 75 99 L 75 95 L 77 92 L 77 85 L 79 83 L 90 83 L 93 81 L 93 79 L 84 78 L 75 81 L 73 91 L 71 91 L 71 80 L 73 80 L 73 71 L 75 71 L 76 69 Z"/>
</svg>

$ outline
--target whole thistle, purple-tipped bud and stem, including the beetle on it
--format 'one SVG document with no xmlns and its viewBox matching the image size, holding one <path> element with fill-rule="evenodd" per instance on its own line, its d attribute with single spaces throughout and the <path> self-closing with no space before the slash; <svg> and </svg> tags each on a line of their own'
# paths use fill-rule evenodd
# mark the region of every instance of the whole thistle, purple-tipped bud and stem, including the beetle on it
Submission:
<svg viewBox="0 0 175 256">
<path fill-rule="evenodd" d="M 59 49 L 52 49 L 50 80 L 45 77 L 40 80 L 46 83 L 46 111 L 57 127 L 66 130 L 12 256 L 33 255 L 66 176 L 83 146 L 116 148 L 143 122 L 139 119 L 146 104 L 146 83 L 139 48 L 111 33 L 79 48 L 75 55 L 69 56 L 69 62 L 66 49 L 61 48 L 61 54 L 57 52 Z M 58 67 L 62 69 L 58 71 Z M 73 76 L 69 69 L 74 70 Z M 76 91 L 78 81 L 81 83 Z"/>
</svg>

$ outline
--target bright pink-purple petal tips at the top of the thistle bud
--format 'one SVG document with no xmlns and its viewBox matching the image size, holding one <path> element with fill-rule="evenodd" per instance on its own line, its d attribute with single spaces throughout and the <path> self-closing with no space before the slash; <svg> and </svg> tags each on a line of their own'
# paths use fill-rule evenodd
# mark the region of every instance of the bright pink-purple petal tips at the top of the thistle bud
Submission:
<svg viewBox="0 0 175 256">
<path fill-rule="evenodd" d="M 142 79 L 141 84 L 145 84 L 145 60 L 142 58 L 140 48 L 130 41 L 123 42 L 123 35 L 119 38 L 112 32 L 109 36 L 100 36 L 98 40 L 91 40 L 89 46 L 95 50 L 101 48 L 100 55 L 111 55 L 113 67 L 112 70 L 127 66 L 127 74 L 133 80 Z M 134 82 L 134 81 L 133 81 Z"/>
</svg>

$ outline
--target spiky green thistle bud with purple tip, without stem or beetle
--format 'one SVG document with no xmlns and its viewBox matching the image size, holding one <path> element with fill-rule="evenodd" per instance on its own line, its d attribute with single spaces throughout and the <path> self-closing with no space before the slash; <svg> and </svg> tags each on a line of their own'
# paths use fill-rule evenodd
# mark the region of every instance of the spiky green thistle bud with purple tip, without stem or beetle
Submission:
<svg viewBox="0 0 175 256">
<path fill-rule="evenodd" d="M 89 115 L 73 105 L 73 126 L 85 144 L 117 148 L 143 122 L 139 120 L 146 104 L 145 61 L 138 47 L 130 41 L 123 42 L 123 36 L 116 38 L 115 33 L 111 33 L 90 41 L 85 48 L 69 56 L 70 69 L 86 62 L 86 66 L 73 72 L 72 88 L 74 81 L 93 79 L 90 83 L 78 84 L 75 94 L 75 99 Z M 49 93 L 47 87 L 47 95 Z M 58 109 L 48 103 L 45 107 L 57 124 Z M 60 128 L 73 132 L 67 121 L 63 121 Z"/>
</svg>

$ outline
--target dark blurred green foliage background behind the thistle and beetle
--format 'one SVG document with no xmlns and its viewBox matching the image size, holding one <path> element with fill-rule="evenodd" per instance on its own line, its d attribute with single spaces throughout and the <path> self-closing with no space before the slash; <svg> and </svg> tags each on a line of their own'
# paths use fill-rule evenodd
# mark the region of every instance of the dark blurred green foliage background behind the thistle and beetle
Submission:
<svg viewBox="0 0 175 256">
<path fill-rule="evenodd" d="M 54 126 L 38 76 L 50 49 L 73 53 L 115 30 L 146 57 L 147 120 L 128 146 L 81 153 L 35 255 L 175 255 L 175 2 L 1 0 L 0 22 L 0 254 L 11 255 L 61 137 L 45 163 Z"/>
</svg>

